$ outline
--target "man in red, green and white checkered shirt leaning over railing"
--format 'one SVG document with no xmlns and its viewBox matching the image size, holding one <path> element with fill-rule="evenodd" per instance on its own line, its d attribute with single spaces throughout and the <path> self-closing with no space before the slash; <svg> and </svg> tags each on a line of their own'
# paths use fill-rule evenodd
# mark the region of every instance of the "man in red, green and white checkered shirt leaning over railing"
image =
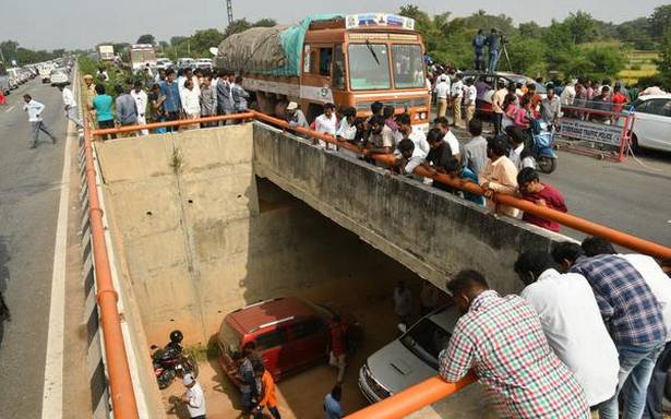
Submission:
<svg viewBox="0 0 671 419">
<path fill-rule="evenodd" d="M 590 417 L 583 388 L 550 348 L 529 303 L 500 297 L 476 271 L 458 273 L 447 288 L 464 315 L 440 355 L 445 381 L 472 370 L 505 418 Z"/>
</svg>

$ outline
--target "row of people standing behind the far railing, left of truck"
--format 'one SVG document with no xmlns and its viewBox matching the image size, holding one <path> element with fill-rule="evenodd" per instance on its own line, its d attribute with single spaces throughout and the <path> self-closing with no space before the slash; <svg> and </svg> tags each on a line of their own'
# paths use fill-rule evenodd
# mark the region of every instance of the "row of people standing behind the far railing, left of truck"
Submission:
<svg viewBox="0 0 671 419">
<path fill-rule="evenodd" d="M 249 107 L 250 94 L 242 87 L 242 77 L 230 71 L 159 69 L 155 77 L 136 80 L 131 88 L 116 84 L 116 99 L 112 99 L 110 92 L 106 92 L 104 82 L 108 76 L 105 71 L 99 71 L 96 77 L 97 84 L 91 74 L 84 75 L 84 82 L 87 109 L 100 129 L 242 113 Z M 217 124 L 185 124 L 181 130 Z M 153 132 L 173 130 L 172 127 L 164 127 Z M 140 131 L 140 135 L 148 133 L 148 130 Z M 117 135 L 129 134 L 110 136 Z"/>
</svg>

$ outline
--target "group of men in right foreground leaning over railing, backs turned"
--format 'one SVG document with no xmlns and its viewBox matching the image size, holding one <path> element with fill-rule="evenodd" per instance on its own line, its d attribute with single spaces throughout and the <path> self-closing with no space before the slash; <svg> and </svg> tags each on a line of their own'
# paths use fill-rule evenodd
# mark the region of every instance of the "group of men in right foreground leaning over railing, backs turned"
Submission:
<svg viewBox="0 0 671 419">
<path fill-rule="evenodd" d="M 620 254 L 604 239 L 530 250 L 525 288 L 501 297 L 484 276 L 447 283 L 458 320 L 440 355 L 448 382 L 472 371 L 506 418 L 662 419 L 671 363 L 671 261 Z"/>
</svg>

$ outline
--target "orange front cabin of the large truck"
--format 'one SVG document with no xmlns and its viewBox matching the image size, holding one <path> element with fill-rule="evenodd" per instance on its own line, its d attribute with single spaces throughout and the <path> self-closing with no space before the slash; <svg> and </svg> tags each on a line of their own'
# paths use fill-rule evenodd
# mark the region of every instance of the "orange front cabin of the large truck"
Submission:
<svg viewBox="0 0 671 419">
<path fill-rule="evenodd" d="M 392 15 L 349 15 L 316 21 L 305 34 L 302 53 L 301 105 L 309 120 L 324 101 L 352 106 L 370 115 L 379 100 L 408 111 L 416 125 L 429 123 L 429 94 L 421 36 L 411 20 Z M 304 95 L 313 88 L 332 100 Z M 307 97 L 305 97 L 307 96 Z M 316 97 L 319 99 L 319 97 Z M 423 127 L 422 127 L 423 128 Z"/>
</svg>

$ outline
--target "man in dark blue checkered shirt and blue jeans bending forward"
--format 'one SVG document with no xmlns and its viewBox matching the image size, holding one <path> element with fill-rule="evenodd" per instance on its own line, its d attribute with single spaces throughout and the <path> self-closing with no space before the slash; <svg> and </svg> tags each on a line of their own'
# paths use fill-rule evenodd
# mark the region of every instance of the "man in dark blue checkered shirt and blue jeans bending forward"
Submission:
<svg viewBox="0 0 671 419">
<path fill-rule="evenodd" d="M 599 418 L 618 419 L 622 392 L 624 418 L 639 419 L 655 362 L 667 337 L 661 307 L 640 273 L 624 258 L 583 255 L 576 243 L 559 243 L 554 260 L 587 278 L 620 359 L 615 395 L 599 406 Z"/>
</svg>

